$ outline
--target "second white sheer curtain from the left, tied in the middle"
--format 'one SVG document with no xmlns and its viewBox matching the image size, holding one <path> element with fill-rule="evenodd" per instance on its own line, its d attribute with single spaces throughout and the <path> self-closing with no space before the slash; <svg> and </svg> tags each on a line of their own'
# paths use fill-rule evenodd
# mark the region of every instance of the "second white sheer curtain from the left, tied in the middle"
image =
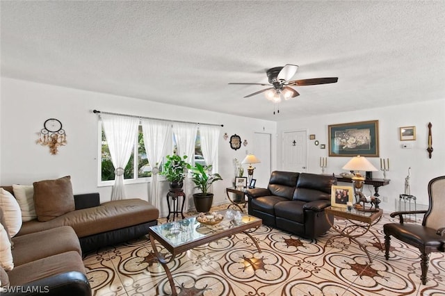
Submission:
<svg viewBox="0 0 445 296">
<path fill-rule="evenodd" d="M 172 123 L 163 120 L 141 120 L 144 136 L 145 151 L 149 164 L 152 167 L 152 183 L 150 184 L 150 195 L 148 201 L 163 213 L 163 203 L 159 196 L 158 173 L 159 164 L 167 151 L 168 142 L 172 140 Z"/>
</svg>

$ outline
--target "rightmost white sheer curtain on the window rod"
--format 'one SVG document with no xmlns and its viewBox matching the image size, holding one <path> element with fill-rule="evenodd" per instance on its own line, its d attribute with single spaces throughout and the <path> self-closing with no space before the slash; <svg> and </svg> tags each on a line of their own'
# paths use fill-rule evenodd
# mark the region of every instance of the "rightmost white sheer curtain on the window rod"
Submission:
<svg viewBox="0 0 445 296">
<path fill-rule="evenodd" d="M 207 165 L 212 165 L 212 173 L 218 170 L 219 126 L 200 126 L 201 151 Z"/>
</svg>

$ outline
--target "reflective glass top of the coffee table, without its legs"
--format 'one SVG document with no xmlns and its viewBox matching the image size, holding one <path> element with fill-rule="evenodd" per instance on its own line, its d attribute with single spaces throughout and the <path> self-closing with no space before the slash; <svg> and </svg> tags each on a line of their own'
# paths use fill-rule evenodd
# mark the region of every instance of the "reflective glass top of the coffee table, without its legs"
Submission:
<svg viewBox="0 0 445 296">
<path fill-rule="evenodd" d="M 218 211 L 217 213 L 223 215 L 224 218 L 220 223 L 215 225 L 202 224 L 197 221 L 197 217 L 188 217 L 184 220 L 152 226 L 150 229 L 172 247 L 178 247 L 207 236 L 234 230 L 238 227 L 245 228 L 248 227 L 248 224 L 261 221 L 261 219 L 257 217 L 241 213 L 241 222 L 235 222 L 234 218 L 227 216 L 227 212 L 229 211 L 234 215 L 240 213 L 239 211 L 233 210 Z M 252 225 L 252 227 L 256 226 Z"/>
</svg>

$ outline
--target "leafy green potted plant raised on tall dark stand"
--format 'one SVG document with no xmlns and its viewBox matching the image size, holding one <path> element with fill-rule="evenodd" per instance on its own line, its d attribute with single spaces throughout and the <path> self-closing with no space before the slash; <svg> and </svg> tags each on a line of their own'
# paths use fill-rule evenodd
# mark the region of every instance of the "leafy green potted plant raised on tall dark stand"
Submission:
<svg viewBox="0 0 445 296">
<path fill-rule="evenodd" d="M 170 189 L 181 189 L 183 181 L 186 178 L 187 170 L 191 165 L 186 163 L 187 156 L 168 155 L 167 161 L 163 164 L 162 172 L 159 174 L 165 176 L 170 182 Z"/>
</svg>

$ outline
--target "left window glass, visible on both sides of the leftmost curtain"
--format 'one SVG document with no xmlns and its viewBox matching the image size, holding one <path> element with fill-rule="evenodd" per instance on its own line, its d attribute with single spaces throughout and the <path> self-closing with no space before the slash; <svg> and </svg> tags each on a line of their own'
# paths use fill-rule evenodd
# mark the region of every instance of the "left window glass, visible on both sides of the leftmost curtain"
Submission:
<svg viewBox="0 0 445 296">
<path fill-rule="evenodd" d="M 101 149 L 101 181 L 113 181 L 115 179 L 115 167 L 111 162 L 110 151 L 108 150 L 108 143 L 101 124 L 102 135 L 102 149 Z M 150 167 L 145 153 L 144 137 L 142 133 L 142 126 L 138 128 L 138 137 L 133 146 L 133 153 L 124 170 L 125 180 L 136 180 L 140 178 L 147 178 L 152 176 L 152 167 Z M 137 155 L 137 161 L 134 161 L 134 156 Z M 135 174 L 137 172 L 137 174 Z"/>
</svg>

